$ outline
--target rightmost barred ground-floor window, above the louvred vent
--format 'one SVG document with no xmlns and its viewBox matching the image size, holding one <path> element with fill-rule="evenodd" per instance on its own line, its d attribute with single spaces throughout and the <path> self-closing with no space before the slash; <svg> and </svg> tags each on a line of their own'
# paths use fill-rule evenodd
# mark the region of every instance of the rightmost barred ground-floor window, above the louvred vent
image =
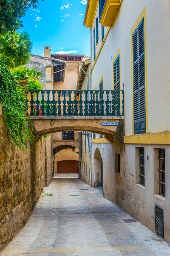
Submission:
<svg viewBox="0 0 170 256">
<path fill-rule="evenodd" d="M 159 195 L 165 197 L 165 149 L 159 148 Z"/>
</svg>

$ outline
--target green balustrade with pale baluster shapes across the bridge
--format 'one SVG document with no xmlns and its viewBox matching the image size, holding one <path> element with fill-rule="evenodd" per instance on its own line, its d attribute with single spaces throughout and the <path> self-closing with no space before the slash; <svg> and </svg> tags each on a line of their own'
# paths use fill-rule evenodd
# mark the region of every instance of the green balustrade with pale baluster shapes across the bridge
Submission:
<svg viewBox="0 0 170 256">
<path fill-rule="evenodd" d="M 35 90 L 30 116 L 124 116 L 123 90 Z"/>
</svg>

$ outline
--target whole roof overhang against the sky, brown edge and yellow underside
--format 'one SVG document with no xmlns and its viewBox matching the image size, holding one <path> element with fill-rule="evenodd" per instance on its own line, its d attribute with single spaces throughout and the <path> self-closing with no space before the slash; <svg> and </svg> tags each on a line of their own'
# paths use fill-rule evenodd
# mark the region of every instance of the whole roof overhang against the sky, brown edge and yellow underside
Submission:
<svg viewBox="0 0 170 256">
<path fill-rule="evenodd" d="M 85 25 L 87 28 L 90 28 L 93 25 L 94 16 L 96 15 L 98 4 L 99 0 L 88 0 L 87 2 L 83 23 L 83 25 Z"/>
</svg>

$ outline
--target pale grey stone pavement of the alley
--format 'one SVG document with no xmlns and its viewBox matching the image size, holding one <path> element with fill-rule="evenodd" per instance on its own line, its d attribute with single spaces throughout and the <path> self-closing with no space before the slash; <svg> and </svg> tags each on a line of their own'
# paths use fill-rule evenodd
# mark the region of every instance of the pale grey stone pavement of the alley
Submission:
<svg viewBox="0 0 170 256">
<path fill-rule="evenodd" d="M 52 193 L 47 196 L 45 193 Z M 44 189 L 26 226 L 1 256 L 170 256 L 170 246 L 78 179 Z"/>
</svg>

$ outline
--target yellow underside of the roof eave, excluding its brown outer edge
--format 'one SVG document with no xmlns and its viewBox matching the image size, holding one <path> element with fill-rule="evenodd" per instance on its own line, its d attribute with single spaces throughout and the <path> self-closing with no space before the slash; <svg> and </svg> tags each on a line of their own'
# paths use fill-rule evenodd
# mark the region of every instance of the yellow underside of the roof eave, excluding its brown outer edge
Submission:
<svg viewBox="0 0 170 256">
<path fill-rule="evenodd" d="M 89 3 L 88 14 L 85 22 L 85 26 L 87 28 L 90 28 L 91 26 L 93 26 L 98 5 L 99 5 L 99 1 L 97 0 L 91 0 Z"/>
</svg>

